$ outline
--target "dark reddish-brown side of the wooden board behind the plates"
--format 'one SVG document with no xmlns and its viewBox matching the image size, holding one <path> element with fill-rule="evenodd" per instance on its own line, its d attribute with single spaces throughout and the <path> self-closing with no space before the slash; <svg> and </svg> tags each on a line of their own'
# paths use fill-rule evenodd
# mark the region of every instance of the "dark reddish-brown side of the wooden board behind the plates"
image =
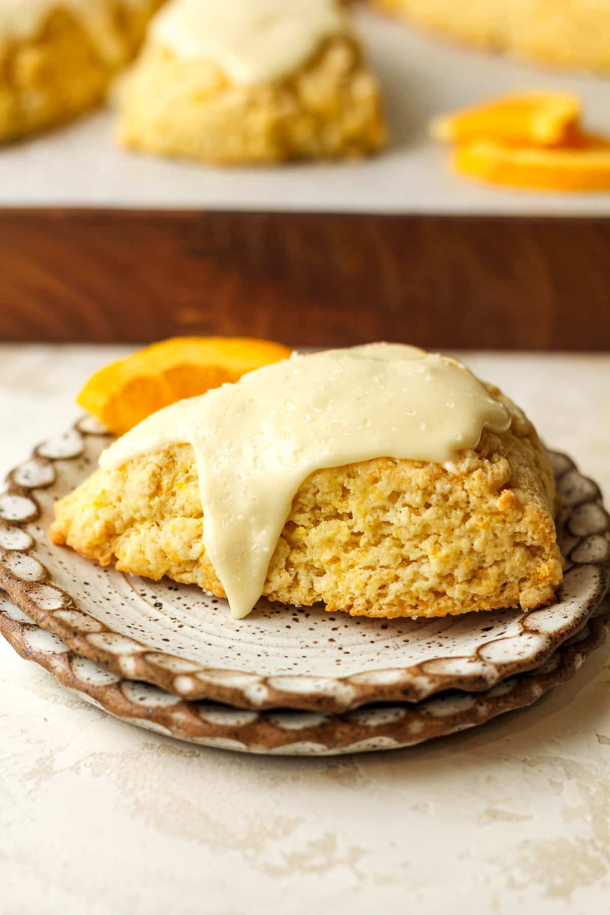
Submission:
<svg viewBox="0 0 610 915">
<path fill-rule="evenodd" d="M 0 212 L 0 339 L 606 350 L 610 220 Z"/>
</svg>

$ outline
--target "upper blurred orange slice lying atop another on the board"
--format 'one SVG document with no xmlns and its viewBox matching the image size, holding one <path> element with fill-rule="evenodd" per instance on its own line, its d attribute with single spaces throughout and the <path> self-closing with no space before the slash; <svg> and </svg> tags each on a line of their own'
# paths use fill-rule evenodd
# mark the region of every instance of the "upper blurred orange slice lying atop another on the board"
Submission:
<svg viewBox="0 0 610 915">
<path fill-rule="evenodd" d="M 565 143 L 578 124 L 581 105 L 568 92 L 524 92 L 508 95 L 433 120 L 434 139 L 451 143 L 494 140 L 515 145 Z"/>
</svg>

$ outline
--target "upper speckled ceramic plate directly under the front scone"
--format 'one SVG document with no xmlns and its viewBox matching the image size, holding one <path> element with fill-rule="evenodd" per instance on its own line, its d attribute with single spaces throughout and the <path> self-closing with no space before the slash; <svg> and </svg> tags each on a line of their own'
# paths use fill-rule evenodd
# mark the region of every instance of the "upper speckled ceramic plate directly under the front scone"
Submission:
<svg viewBox="0 0 610 915">
<path fill-rule="evenodd" d="M 245 620 L 198 587 L 102 569 L 48 541 L 53 501 L 108 444 L 85 419 L 36 448 L 0 496 L 0 584 L 43 629 L 109 671 L 187 699 L 339 713 L 487 689 L 544 662 L 600 603 L 610 563 L 600 492 L 552 455 L 566 575 L 549 608 L 444 619 L 354 619 L 262 600 Z"/>
</svg>

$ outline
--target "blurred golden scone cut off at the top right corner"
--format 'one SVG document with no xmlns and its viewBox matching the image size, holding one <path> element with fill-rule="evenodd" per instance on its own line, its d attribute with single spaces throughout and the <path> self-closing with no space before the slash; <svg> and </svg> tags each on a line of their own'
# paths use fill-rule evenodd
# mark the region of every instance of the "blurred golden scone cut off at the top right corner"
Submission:
<svg viewBox="0 0 610 915">
<path fill-rule="evenodd" d="M 591 0 L 372 0 L 433 31 L 553 65 L 610 72 L 610 4 Z"/>
</svg>

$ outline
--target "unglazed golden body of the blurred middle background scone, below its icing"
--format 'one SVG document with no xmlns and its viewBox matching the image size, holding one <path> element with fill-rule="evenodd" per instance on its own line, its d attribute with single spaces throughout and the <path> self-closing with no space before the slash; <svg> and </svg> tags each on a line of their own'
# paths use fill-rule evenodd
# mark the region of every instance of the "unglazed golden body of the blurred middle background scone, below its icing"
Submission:
<svg viewBox="0 0 610 915">
<path fill-rule="evenodd" d="M 149 38 L 124 86 L 118 138 L 144 152 L 240 166 L 365 156 L 386 144 L 387 131 L 353 35 L 326 38 L 293 72 L 253 86 Z"/>
</svg>

